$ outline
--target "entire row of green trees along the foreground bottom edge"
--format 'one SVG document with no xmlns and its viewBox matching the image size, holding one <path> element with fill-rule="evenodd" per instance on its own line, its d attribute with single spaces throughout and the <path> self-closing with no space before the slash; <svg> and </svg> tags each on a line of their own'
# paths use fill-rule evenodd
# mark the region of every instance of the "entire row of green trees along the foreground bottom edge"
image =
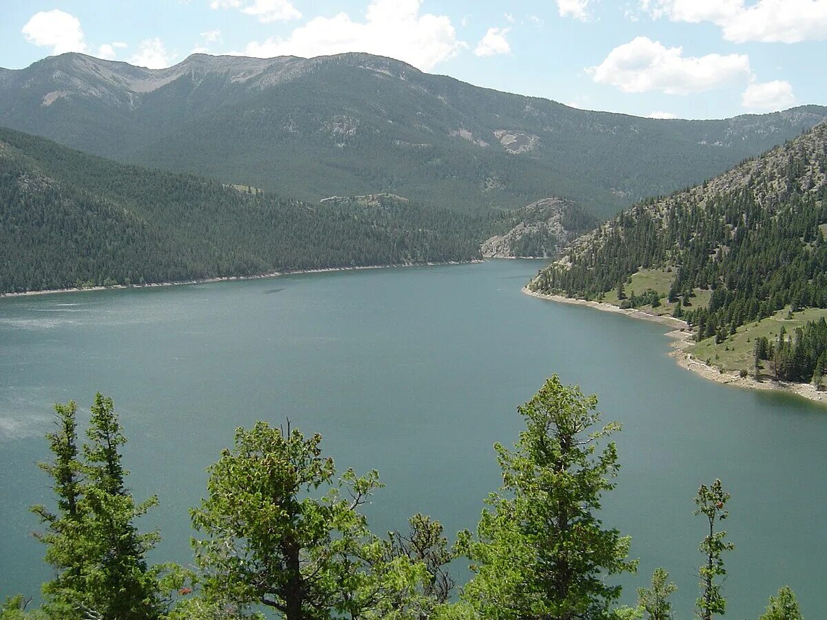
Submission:
<svg viewBox="0 0 827 620">
<path fill-rule="evenodd" d="M 266 422 L 239 428 L 191 511 L 193 570 L 146 560 L 158 534 L 140 532 L 135 520 L 156 501 L 136 504 L 127 489 L 112 399 L 96 395 L 84 446 L 75 404 L 56 405 L 53 460 L 41 464 L 55 508 L 33 508 L 55 577 L 43 585 L 41 608 L 13 596 L 0 620 L 669 620 L 676 585 L 663 569 L 638 589 L 635 607 L 617 604 L 612 576 L 633 572 L 637 560 L 629 537 L 598 516 L 619 470 L 609 441 L 619 426 L 601 422 L 596 403 L 555 375 L 519 408 L 526 427 L 514 448 L 495 446 L 502 488 L 486 500 L 476 532 L 459 532 L 453 547 L 422 514 L 408 532 L 370 532 L 362 507 L 382 487 L 379 475 L 337 475 L 318 434 Z M 696 513 L 708 520 L 702 620 L 725 609 L 719 578 L 732 544 L 716 526 L 728 517 L 728 498 L 719 480 L 696 496 Z M 472 577 L 452 599 L 448 567 L 459 558 Z M 762 616 L 782 619 L 801 619 L 787 586 Z"/>
</svg>

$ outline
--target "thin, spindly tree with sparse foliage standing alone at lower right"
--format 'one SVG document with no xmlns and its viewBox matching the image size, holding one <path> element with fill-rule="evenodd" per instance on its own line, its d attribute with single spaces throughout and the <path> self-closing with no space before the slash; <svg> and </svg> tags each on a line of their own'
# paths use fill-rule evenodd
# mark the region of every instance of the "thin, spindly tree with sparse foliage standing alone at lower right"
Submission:
<svg viewBox="0 0 827 620">
<path fill-rule="evenodd" d="M 700 541 L 700 551 L 706 556 L 704 565 L 700 566 L 700 597 L 696 601 L 696 614 L 700 620 L 711 620 L 714 615 L 724 615 L 726 599 L 721 593 L 721 585 L 717 580 L 726 575 L 724 569 L 724 551 L 732 551 L 735 546 L 726 541 L 726 532 L 715 531 L 716 522 L 724 521 L 729 517 L 726 503 L 729 494 L 724 492 L 719 479 L 707 486 L 701 484 L 695 496 L 698 505 L 696 515 L 703 515 L 709 523 L 709 533 Z"/>
</svg>

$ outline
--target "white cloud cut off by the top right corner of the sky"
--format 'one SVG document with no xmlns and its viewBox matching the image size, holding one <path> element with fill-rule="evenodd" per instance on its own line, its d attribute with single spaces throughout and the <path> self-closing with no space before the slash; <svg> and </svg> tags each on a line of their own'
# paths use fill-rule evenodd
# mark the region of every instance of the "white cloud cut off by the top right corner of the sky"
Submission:
<svg viewBox="0 0 827 620">
<path fill-rule="evenodd" d="M 736 43 L 827 39 L 827 0 L 641 0 L 641 7 L 656 19 L 709 21 Z"/>
</svg>

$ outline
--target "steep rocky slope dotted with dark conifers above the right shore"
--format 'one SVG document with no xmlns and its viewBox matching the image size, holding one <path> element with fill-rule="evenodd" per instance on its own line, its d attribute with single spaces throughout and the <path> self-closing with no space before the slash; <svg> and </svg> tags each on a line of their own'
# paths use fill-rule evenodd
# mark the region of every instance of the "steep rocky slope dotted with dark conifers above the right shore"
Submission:
<svg viewBox="0 0 827 620">
<path fill-rule="evenodd" d="M 600 298 L 639 269 L 669 269 L 668 301 L 682 300 L 699 340 L 723 341 L 786 306 L 827 308 L 825 174 L 822 124 L 709 185 L 622 213 L 530 286 Z M 696 289 L 711 289 L 708 307 L 691 306 Z"/>
</svg>

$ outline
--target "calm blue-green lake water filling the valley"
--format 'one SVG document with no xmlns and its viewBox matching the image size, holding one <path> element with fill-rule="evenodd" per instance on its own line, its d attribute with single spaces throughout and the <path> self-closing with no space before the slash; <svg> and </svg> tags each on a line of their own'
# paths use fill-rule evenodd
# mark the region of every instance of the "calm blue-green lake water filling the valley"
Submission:
<svg viewBox="0 0 827 620">
<path fill-rule="evenodd" d="M 0 299 L 0 597 L 37 594 L 49 570 L 27 512 L 48 502 L 36 460 L 51 407 L 115 399 L 129 438 L 141 519 L 164 541 L 153 560 L 187 561 L 188 509 L 233 429 L 289 417 L 321 432 L 340 470 L 380 471 L 375 532 L 422 511 L 447 532 L 474 527 L 500 482 L 492 444 L 552 373 L 597 393 L 622 470 L 604 521 L 641 559 L 624 600 L 662 565 L 691 618 L 704 524 L 698 485 L 732 494 L 725 526 L 728 617 L 755 618 L 790 584 L 808 618 L 827 617 L 827 410 L 799 398 L 700 379 L 667 357 L 664 327 L 531 298 L 532 260 L 297 274 L 151 289 Z M 85 424 L 85 420 L 82 420 Z"/>
</svg>

